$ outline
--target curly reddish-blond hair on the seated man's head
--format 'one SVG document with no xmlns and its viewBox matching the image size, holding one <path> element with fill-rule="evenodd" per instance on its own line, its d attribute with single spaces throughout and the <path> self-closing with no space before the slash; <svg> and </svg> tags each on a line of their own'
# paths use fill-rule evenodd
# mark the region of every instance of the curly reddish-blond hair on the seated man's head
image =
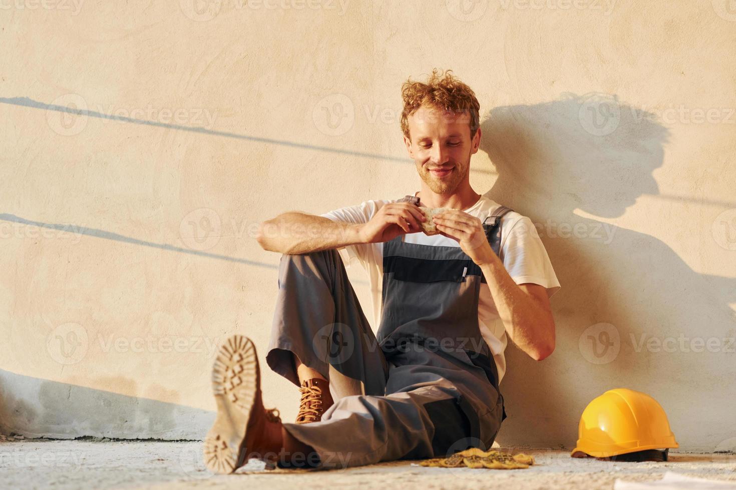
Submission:
<svg viewBox="0 0 736 490">
<path fill-rule="evenodd" d="M 475 93 L 466 84 L 454 76 L 452 70 L 439 72 L 432 70 L 427 83 L 412 82 L 411 77 L 401 85 L 401 98 L 404 109 L 401 113 L 401 131 L 409 140 L 408 117 L 422 106 L 434 107 L 445 111 L 462 114 L 470 113 L 470 138 L 475 137 L 475 131 L 480 126 L 481 104 L 475 98 Z"/>
</svg>

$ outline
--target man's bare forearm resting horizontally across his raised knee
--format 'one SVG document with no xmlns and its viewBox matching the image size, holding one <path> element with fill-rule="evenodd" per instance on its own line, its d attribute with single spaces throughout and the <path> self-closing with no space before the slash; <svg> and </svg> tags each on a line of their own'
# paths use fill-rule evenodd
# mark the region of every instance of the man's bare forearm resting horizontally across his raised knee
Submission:
<svg viewBox="0 0 736 490">
<path fill-rule="evenodd" d="M 279 253 L 311 253 L 361 242 L 361 225 L 336 223 L 326 217 L 286 212 L 261 223 L 258 243 Z"/>
</svg>

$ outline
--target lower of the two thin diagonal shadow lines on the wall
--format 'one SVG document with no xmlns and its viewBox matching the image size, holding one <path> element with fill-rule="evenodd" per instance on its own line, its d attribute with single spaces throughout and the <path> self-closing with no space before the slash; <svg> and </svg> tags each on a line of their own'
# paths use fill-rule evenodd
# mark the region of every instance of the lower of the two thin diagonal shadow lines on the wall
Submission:
<svg viewBox="0 0 736 490">
<path fill-rule="evenodd" d="M 113 233 L 112 231 L 99 230 L 97 228 L 87 228 L 86 226 L 60 225 L 57 223 L 42 223 L 40 221 L 26 220 L 26 218 L 15 216 L 15 215 L 10 215 L 8 213 L 0 213 L 0 220 L 9 221 L 11 223 L 19 223 L 21 225 L 38 226 L 39 228 L 49 228 L 49 229 L 57 230 L 57 231 L 66 231 L 71 234 L 87 235 L 88 237 L 108 239 L 108 240 L 113 240 L 116 242 L 130 243 L 132 245 L 142 245 L 144 247 L 160 248 L 161 250 L 166 250 L 170 252 L 191 253 L 191 255 L 207 257 L 208 259 L 226 260 L 227 262 L 237 262 L 238 264 L 247 264 L 247 265 L 255 265 L 257 267 L 266 267 L 266 269 L 278 270 L 279 268 L 279 266 L 275 264 L 266 264 L 265 262 L 256 262 L 255 260 L 240 259 L 238 257 L 230 257 L 227 255 L 221 255 L 219 253 L 209 253 L 209 252 L 191 250 L 189 248 L 175 247 L 174 245 L 169 245 L 167 243 L 148 242 L 146 240 L 126 237 L 125 235 Z M 361 281 L 359 279 L 358 280 L 353 279 L 350 282 L 353 282 L 355 284 L 368 284 L 368 281 Z"/>
</svg>

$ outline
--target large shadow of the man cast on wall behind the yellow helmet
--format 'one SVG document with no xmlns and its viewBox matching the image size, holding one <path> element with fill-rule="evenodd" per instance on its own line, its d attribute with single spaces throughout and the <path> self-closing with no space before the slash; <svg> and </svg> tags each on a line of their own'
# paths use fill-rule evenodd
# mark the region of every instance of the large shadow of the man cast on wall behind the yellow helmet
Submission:
<svg viewBox="0 0 736 490">
<path fill-rule="evenodd" d="M 707 232 L 703 252 L 720 250 L 696 203 L 687 215 L 676 201 L 637 204 L 659 195 L 653 172 L 663 165 L 668 129 L 613 98 L 576 95 L 496 107 L 481 129 L 481 149 L 498 170 L 486 195 L 531 218 L 562 284 L 551 300 L 553 355 L 537 363 L 509 342 L 500 385 L 509 418 L 498 442 L 573 447 L 587 403 L 627 387 L 659 401 L 681 447 L 715 447 L 725 436 L 716 421 L 732 417 L 736 354 L 728 341 L 720 352 L 695 352 L 693 339 L 735 336 L 728 303 L 736 302 L 736 279 L 697 273 L 653 236 L 665 227 Z M 734 267 L 723 273 L 734 275 Z M 651 337 L 675 340 L 658 349 Z"/>
</svg>

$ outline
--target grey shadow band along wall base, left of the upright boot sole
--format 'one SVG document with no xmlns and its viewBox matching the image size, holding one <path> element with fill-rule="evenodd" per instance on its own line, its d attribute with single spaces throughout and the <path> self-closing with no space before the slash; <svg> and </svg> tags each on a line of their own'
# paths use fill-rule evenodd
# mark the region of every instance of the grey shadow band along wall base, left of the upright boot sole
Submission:
<svg viewBox="0 0 736 490">
<path fill-rule="evenodd" d="M 6 435 L 199 441 L 214 418 L 199 408 L 0 370 L 0 433 Z"/>
</svg>

